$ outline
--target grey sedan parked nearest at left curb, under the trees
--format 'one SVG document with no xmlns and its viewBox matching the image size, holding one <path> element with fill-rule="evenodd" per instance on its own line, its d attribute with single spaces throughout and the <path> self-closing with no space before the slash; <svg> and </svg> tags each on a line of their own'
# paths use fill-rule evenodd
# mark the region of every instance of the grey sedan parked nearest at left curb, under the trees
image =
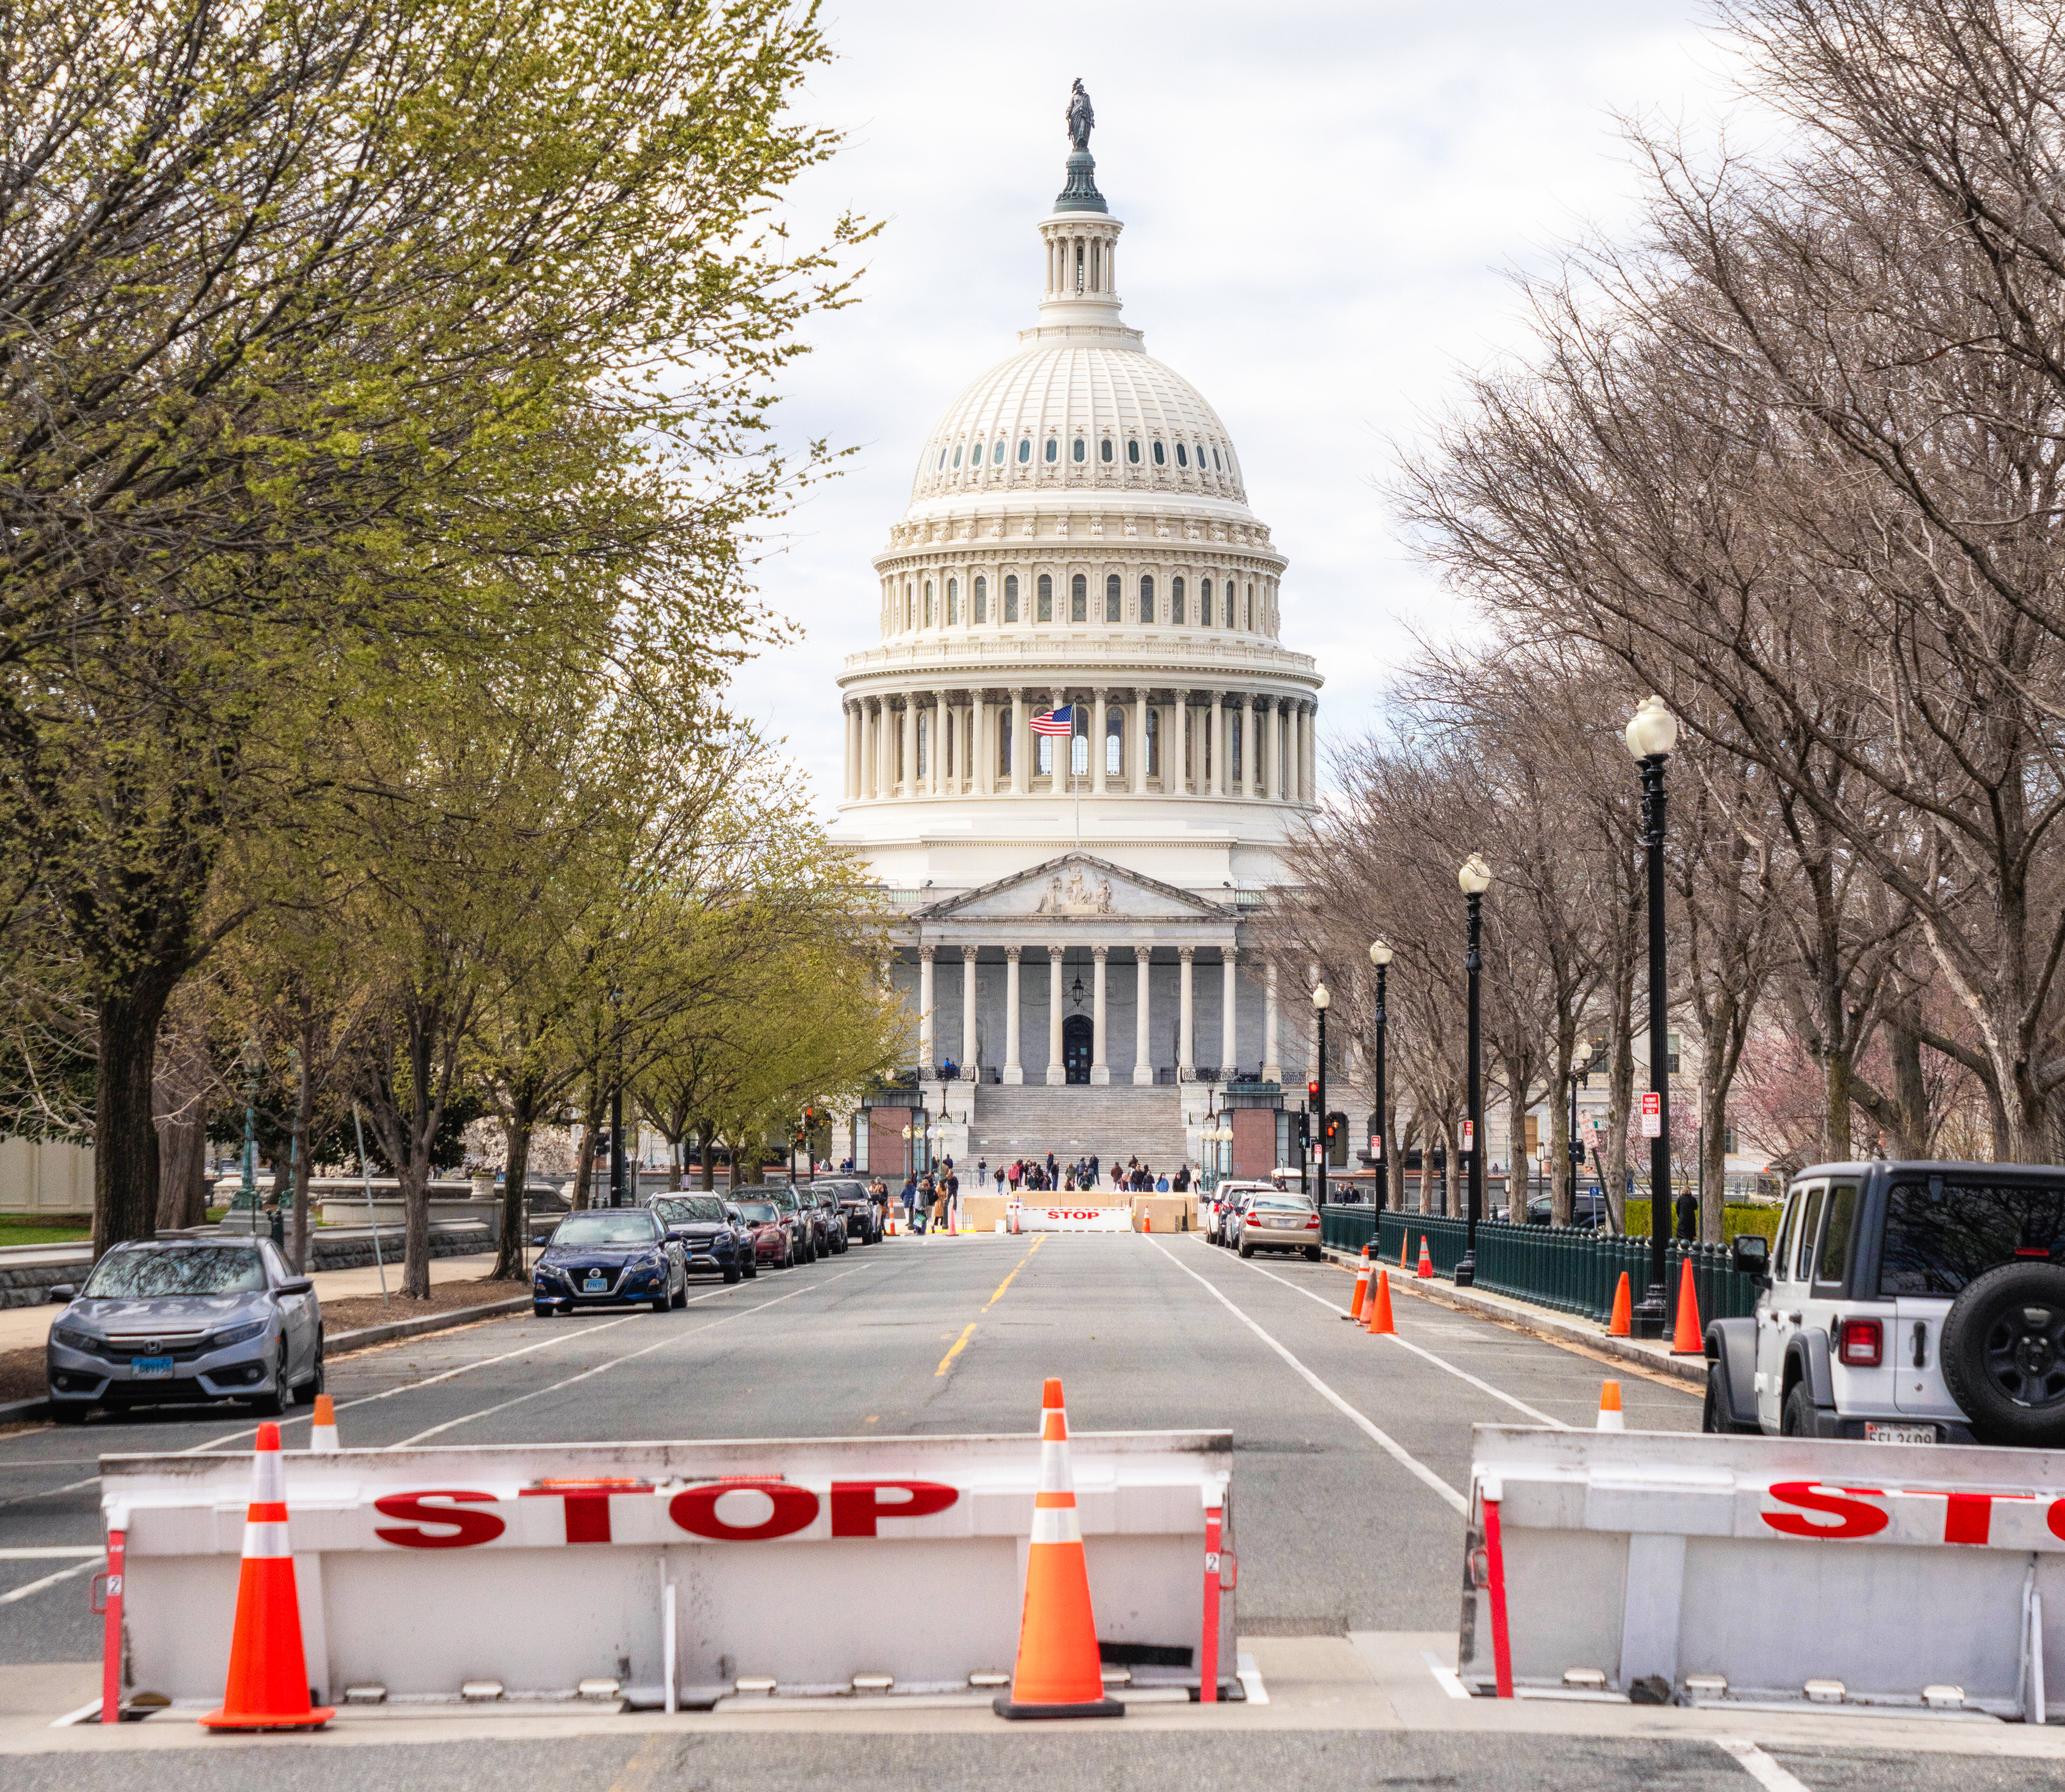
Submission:
<svg viewBox="0 0 2065 1792">
<path fill-rule="evenodd" d="M 58 1425 L 95 1406 L 246 1400 L 277 1414 L 322 1391 L 322 1303 L 271 1239 L 116 1245 L 64 1311 L 45 1369 Z"/>
</svg>

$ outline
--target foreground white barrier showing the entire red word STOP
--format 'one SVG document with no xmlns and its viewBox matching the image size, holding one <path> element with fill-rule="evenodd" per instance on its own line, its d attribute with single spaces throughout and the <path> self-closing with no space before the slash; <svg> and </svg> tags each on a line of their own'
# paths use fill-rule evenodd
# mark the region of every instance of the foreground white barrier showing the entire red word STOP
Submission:
<svg viewBox="0 0 2065 1792">
<path fill-rule="evenodd" d="M 1138 1683 L 1235 1660 L 1206 1594 L 1222 1431 L 1082 1433 L 1097 1635 Z M 869 1437 L 293 1451 L 287 1534 L 318 1703 L 737 1691 L 966 1691 L 1018 1647 L 1037 1437 Z M 126 1534 L 124 1695 L 215 1701 L 229 1662 L 250 1455 L 107 1455 Z M 1216 1577 L 1231 1588 L 1231 1573 Z M 1002 1681 L 999 1681 L 1002 1685 Z"/>
</svg>

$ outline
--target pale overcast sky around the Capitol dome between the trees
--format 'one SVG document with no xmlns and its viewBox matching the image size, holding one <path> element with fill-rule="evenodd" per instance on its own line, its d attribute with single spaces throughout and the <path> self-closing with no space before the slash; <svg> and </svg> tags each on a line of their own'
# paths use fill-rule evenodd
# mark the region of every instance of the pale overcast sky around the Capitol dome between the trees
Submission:
<svg viewBox="0 0 2065 1792">
<path fill-rule="evenodd" d="M 859 452 L 760 568 L 801 644 L 735 687 L 826 820 L 834 679 L 876 638 L 869 557 L 931 423 L 1035 320 L 1035 221 L 1061 186 L 1072 78 L 1125 221 L 1125 320 L 1225 419 L 1291 559 L 1284 640 L 1326 673 L 1324 747 L 1371 725 L 1408 632 L 1456 621 L 1386 514 L 1392 444 L 1458 370 L 1520 341 L 1516 268 L 1631 215 L 1615 114 L 1716 116 L 1724 54 L 1706 17 L 1702 0 L 830 0 L 840 60 L 805 111 L 849 142 L 795 213 L 822 229 L 851 206 L 884 231 L 861 303 L 812 324 L 781 429 Z"/>
</svg>

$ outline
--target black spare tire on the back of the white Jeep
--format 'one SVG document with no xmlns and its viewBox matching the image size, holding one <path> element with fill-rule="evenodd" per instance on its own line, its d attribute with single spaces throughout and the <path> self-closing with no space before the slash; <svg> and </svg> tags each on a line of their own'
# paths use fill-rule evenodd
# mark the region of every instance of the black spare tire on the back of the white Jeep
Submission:
<svg viewBox="0 0 2065 1792">
<path fill-rule="evenodd" d="M 1943 1319 L 1943 1379 L 1982 1443 L 2065 1445 L 2065 1266 L 1966 1282 Z"/>
</svg>

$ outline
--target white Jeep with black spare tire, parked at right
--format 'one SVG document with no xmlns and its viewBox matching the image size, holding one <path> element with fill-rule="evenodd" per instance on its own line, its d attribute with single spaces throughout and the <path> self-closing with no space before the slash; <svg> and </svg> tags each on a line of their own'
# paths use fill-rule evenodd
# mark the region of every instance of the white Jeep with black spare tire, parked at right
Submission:
<svg viewBox="0 0 2065 1792">
<path fill-rule="evenodd" d="M 1747 1319 L 1706 1327 L 1706 1429 L 2065 1445 L 2065 1171 L 1813 1164 Z"/>
</svg>

